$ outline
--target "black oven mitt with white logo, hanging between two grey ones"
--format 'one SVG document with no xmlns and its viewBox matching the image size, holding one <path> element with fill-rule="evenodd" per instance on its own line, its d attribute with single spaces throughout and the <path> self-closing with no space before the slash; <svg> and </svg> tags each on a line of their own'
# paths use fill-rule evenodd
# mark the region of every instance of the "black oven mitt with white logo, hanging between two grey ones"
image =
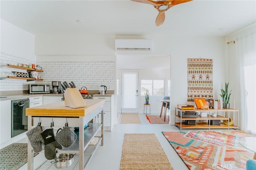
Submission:
<svg viewBox="0 0 256 170">
<path fill-rule="evenodd" d="M 51 160 L 56 157 L 56 148 L 62 149 L 62 146 L 55 140 L 53 128 L 48 128 L 41 132 L 44 139 L 44 156 Z"/>
</svg>

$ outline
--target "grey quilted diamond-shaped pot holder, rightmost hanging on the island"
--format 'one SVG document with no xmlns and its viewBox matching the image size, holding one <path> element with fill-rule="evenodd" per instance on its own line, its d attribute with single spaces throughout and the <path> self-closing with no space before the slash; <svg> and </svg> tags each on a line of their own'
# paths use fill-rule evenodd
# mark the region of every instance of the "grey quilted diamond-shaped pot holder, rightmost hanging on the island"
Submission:
<svg viewBox="0 0 256 170">
<path fill-rule="evenodd" d="M 59 132 L 60 130 L 60 132 Z M 68 147 L 74 143 L 77 136 L 73 130 L 68 127 L 68 123 L 65 123 L 63 129 L 59 128 L 55 139 L 64 147 Z"/>
</svg>

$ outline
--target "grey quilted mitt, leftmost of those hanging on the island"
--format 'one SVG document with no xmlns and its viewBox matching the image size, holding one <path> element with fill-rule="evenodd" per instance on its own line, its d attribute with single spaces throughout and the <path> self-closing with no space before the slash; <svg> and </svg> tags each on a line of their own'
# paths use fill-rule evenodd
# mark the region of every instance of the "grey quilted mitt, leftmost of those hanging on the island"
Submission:
<svg viewBox="0 0 256 170">
<path fill-rule="evenodd" d="M 36 127 L 33 127 L 28 132 L 26 132 L 26 135 L 28 136 L 28 140 L 34 150 L 34 152 L 41 152 L 43 150 L 42 142 L 44 142 L 41 132 L 42 127 L 40 125 L 37 125 Z"/>
</svg>

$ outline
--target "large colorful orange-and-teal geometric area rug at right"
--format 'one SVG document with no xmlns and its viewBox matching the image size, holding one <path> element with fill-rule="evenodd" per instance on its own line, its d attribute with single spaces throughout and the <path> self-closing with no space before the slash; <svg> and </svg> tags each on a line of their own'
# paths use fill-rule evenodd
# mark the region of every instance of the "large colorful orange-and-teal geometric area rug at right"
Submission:
<svg viewBox="0 0 256 170">
<path fill-rule="evenodd" d="M 190 170 L 245 170 L 254 155 L 238 142 L 254 135 L 239 130 L 162 133 Z"/>
</svg>

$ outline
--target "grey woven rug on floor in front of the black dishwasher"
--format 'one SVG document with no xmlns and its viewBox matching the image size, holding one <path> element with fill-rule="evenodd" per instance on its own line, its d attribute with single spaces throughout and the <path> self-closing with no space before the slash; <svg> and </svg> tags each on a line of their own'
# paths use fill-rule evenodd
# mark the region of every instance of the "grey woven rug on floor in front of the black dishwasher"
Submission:
<svg viewBox="0 0 256 170">
<path fill-rule="evenodd" d="M 38 153 L 34 153 L 36 156 Z M 0 170 L 18 170 L 28 162 L 28 144 L 13 143 L 0 150 Z"/>
</svg>

